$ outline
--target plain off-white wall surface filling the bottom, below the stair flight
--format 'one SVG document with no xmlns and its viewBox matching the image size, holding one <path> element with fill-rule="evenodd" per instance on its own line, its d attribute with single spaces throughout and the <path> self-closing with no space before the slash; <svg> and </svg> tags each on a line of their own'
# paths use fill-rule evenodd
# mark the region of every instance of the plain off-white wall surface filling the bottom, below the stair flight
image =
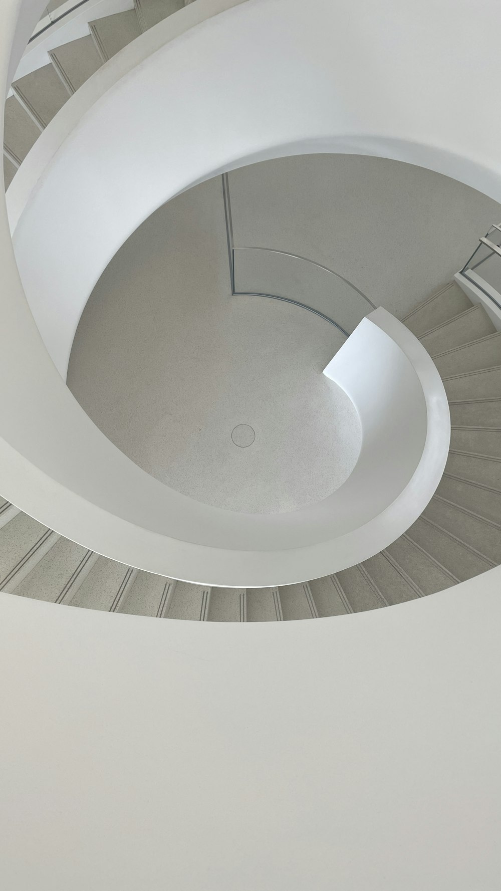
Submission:
<svg viewBox="0 0 501 891">
<path fill-rule="evenodd" d="M 0 595 L 9 891 L 497 891 L 499 573 L 225 625 Z"/>
</svg>

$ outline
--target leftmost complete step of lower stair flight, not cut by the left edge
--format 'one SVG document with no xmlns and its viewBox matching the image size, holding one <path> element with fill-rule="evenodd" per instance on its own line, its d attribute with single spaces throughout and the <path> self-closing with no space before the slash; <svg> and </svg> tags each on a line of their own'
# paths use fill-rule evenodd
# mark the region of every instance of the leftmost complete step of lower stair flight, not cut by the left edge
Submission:
<svg viewBox="0 0 501 891">
<path fill-rule="evenodd" d="M 75 585 L 83 581 L 85 576 L 81 579 L 78 578 L 78 570 L 82 573 L 85 572 L 86 563 L 83 563 L 83 560 L 87 553 L 89 552 L 86 551 L 86 548 L 81 547 L 80 544 L 75 544 L 68 538 L 60 536 L 50 551 L 45 554 L 45 557 L 21 581 L 21 584 L 16 585 L 14 593 L 21 597 L 31 597 L 37 601 L 55 602 L 65 585 L 70 581 L 71 576 L 75 575 Z"/>
</svg>

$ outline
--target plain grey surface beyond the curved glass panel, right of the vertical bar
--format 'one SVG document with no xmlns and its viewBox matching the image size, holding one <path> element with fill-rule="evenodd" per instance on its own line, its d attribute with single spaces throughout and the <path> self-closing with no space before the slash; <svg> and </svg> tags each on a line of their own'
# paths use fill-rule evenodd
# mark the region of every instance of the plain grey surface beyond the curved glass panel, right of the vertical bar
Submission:
<svg viewBox="0 0 501 891">
<path fill-rule="evenodd" d="M 426 168 L 362 155 L 262 161 L 229 174 L 234 243 L 286 250 L 398 317 L 449 282 L 501 205 Z"/>
</svg>

